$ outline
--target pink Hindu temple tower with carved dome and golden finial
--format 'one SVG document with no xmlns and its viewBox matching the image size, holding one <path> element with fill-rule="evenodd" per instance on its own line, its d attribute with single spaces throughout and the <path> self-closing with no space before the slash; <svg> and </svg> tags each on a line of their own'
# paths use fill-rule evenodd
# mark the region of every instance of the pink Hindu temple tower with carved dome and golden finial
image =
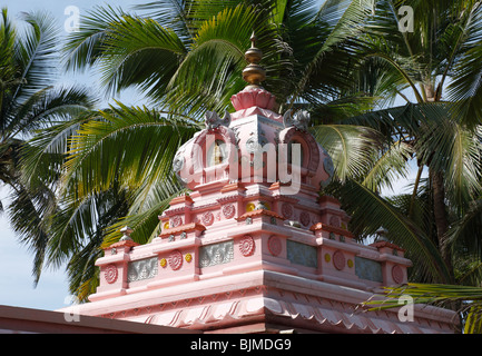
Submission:
<svg viewBox="0 0 482 356">
<path fill-rule="evenodd" d="M 319 196 L 332 159 L 306 112 L 274 111 L 252 41 L 236 111 L 208 112 L 174 159 L 190 192 L 170 201 L 151 243 L 126 228 L 96 263 L 90 303 L 62 310 L 205 333 L 453 333 L 454 313 L 431 306 L 413 322 L 355 313 L 377 288 L 406 283 L 412 263 L 390 243 L 356 243 L 340 202 Z"/>
</svg>

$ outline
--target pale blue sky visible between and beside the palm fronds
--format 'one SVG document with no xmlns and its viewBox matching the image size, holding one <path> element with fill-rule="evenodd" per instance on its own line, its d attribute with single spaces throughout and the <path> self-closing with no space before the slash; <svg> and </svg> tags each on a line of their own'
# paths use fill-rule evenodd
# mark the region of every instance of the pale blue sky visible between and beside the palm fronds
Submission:
<svg viewBox="0 0 482 356">
<path fill-rule="evenodd" d="M 80 14 L 91 9 L 96 4 L 111 3 L 116 7 L 129 9 L 132 4 L 145 3 L 145 0 L 1 0 L 0 7 L 7 7 L 11 18 L 18 18 L 20 11 L 48 10 L 57 21 L 59 28 L 65 31 L 65 24 L 71 23 L 69 7 L 75 6 L 80 10 Z M 67 10 L 67 14 L 66 14 Z M 82 83 L 91 87 L 95 82 L 92 76 L 73 76 L 72 73 L 61 73 L 62 82 Z M 99 90 L 92 88 L 92 90 Z M 135 91 L 126 92 L 121 98 L 126 103 L 138 103 L 141 98 Z M 413 181 L 415 171 L 411 172 L 409 180 Z M 403 187 L 406 180 L 402 179 L 394 186 L 394 191 L 405 192 Z M 386 191 L 391 195 L 392 191 Z M 8 201 L 8 190 L 0 188 L 0 199 L 3 204 Z M 7 200 L 6 200 L 7 199 Z M 7 202 L 8 204 L 8 202 Z M 6 215 L 0 216 L 0 305 L 55 310 L 69 305 L 72 300 L 68 291 L 68 283 L 62 268 L 57 270 L 45 270 L 37 287 L 33 287 L 31 274 L 33 257 L 26 246 L 21 245 L 14 233 L 9 227 Z"/>
</svg>

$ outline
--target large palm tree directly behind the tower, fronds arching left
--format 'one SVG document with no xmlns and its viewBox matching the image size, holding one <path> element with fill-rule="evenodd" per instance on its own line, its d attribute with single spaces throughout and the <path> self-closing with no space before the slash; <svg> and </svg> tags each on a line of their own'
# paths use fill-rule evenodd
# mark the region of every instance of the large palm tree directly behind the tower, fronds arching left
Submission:
<svg viewBox="0 0 482 356">
<path fill-rule="evenodd" d="M 140 89 L 154 109 L 118 102 L 30 141 L 26 177 L 48 175 L 36 164 L 47 147 L 67 151 L 59 195 L 63 211 L 49 220 L 47 255 L 56 266 L 70 261 L 71 290 L 80 299 L 95 289 L 99 247 L 116 241 L 121 226 L 131 226 L 138 243 L 157 235 L 157 216 L 183 191 L 171 171 L 174 155 L 203 127 L 206 110 L 232 109 L 229 98 L 245 86 L 240 72 L 253 30 L 269 78 L 265 87 L 276 95 L 279 111 L 309 106 L 340 118 L 370 107 L 347 76 L 335 72 L 350 69 L 350 50 L 337 46 L 350 47 L 346 39 L 360 31 L 356 23 L 371 13 L 372 1 L 327 1 L 321 8 L 315 1 L 157 1 L 141 10 L 147 18 L 110 7 L 94 10 L 70 37 L 66 62 L 75 70 L 100 70 L 107 95 Z M 345 141 L 357 142 L 355 156 L 342 164 L 345 175 L 357 157 L 376 161 L 365 151 L 383 146 L 383 136 L 356 126 L 333 128 Z M 109 228 L 92 228 L 99 214 L 91 199 L 112 191 L 125 195 L 127 214 Z M 92 238 L 98 231 L 102 238 Z"/>
</svg>

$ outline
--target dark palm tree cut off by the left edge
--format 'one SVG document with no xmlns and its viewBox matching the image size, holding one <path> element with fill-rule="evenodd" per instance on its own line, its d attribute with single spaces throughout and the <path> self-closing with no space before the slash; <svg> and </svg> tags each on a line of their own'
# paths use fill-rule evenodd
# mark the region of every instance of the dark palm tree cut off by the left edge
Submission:
<svg viewBox="0 0 482 356">
<path fill-rule="evenodd" d="M 51 180 L 24 179 L 24 149 L 37 130 L 87 110 L 85 90 L 53 87 L 57 31 L 47 13 L 23 13 L 28 28 L 19 33 L 6 8 L 0 18 L 0 179 L 11 192 L 10 222 L 35 251 L 33 275 L 40 276 L 48 240 L 43 221 L 56 209 Z M 47 158 L 47 156 L 46 156 Z M 46 167 L 51 162 L 45 161 Z M 3 209 L 3 206 L 2 206 Z"/>
</svg>

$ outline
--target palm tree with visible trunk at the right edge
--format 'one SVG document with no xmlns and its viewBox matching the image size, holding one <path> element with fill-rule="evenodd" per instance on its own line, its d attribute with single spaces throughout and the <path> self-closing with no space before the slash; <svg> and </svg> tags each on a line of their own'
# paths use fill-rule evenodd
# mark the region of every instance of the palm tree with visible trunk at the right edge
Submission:
<svg viewBox="0 0 482 356">
<path fill-rule="evenodd" d="M 399 29 L 402 6 L 413 9 L 414 32 Z M 476 1 L 377 1 L 365 34 L 356 39 L 364 46 L 360 65 L 376 68 L 376 86 L 388 108 L 347 122 L 375 128 L 412 151 L 417 164 L 413 194 L 397 198 L 396 205 L 439 250 L 450 274 L 441 283 L 460 277 L 455 270 L 460 259 L 481 257 L 479 247 L 468 248 L 480 245 L 480 234 L 462 239 L 466 226 L 462 221 L 480 211 L 482 192 L 482 97 L 475 66 L 481 59 L 481 16 Z M 396 96 L 406 105 L 391 107 Z M 429 179 L 423 185 L 424 169 Z M 365 229 L 372 226 L 371 231 L 380 226 L 362 216 L 354 219 Z M 403 245 L 396 234 L 392 238 Z"/>
</svg>

